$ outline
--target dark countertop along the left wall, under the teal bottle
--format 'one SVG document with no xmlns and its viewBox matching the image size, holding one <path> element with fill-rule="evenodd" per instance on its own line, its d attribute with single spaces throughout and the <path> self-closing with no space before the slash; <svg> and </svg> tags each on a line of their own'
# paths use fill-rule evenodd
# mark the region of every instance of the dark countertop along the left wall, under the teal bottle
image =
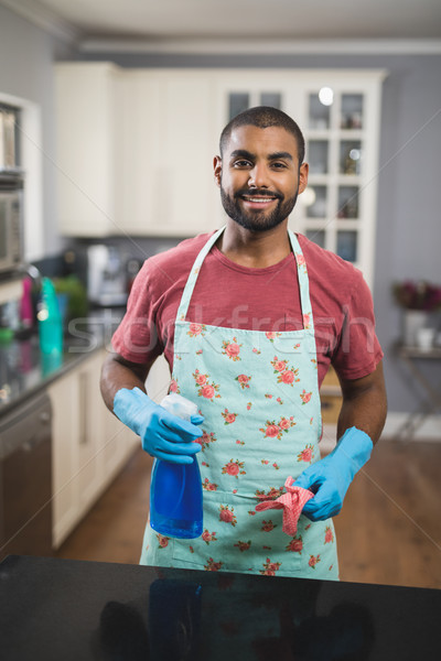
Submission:
<svg viewBox="0 0 441 661">
<path fill-rule="evenodd" d="M 110 346 L 122 308 L 92 311 L 87 318 L 71 322 L 62 357 L 43 355 L 35 333 L 28 339 L 0 344 L 0 416 L 40 392 L 54 379 L 76 367 L 92 353 Z"/>
</svg>

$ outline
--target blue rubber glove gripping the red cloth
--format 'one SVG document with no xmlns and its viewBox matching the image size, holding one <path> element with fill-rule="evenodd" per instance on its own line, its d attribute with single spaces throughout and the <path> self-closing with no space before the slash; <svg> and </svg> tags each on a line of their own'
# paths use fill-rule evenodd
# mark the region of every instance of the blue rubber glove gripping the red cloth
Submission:
<svg viewBox="0 0 441 661">
<path fill-rule="evenodd" d="M 351 427 L 345 431 L 331 454 L 303 470 L 293 483 L 314 492 L 302 514 L 311 521 L 335 517 L 343 506 L 346 491 L 355 474 L 366 464 L 374 447 L 369 436 Z"/>
</svg>

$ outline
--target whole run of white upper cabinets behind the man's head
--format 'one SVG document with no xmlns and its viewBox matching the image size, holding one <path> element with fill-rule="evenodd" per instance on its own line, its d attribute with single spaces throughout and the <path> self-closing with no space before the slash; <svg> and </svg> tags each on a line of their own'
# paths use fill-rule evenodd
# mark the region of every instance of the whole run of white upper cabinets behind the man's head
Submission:
<svg viewBox="0 0 441 661">
<path fill-rule="evenodd" d="M 56 65 L 61 230 L 189 237 L 224 223 L 213 156 L 226 122 L 256 106 L 293 117 L 310 184 L 294 229 L 370 283 L 383 71 L 122 69 Z M 268 83 L 267 83 L 268 80 Z"/>
</svg>

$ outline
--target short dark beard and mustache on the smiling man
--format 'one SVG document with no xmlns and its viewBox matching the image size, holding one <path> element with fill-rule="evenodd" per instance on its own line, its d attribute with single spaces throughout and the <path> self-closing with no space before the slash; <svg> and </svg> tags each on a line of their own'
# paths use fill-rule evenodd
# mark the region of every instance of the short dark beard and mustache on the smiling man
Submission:
<svg viewBox="0 0 441 661">
<path fill-rule="evenodd" d="M 284 198 L 281 193 L 275 193 L 271 191 L 271 196 L 276 196 L 277 198 L 276 207 L 271 210 L 259 212 L 257 209 L 245 210 L 241 208 L 240 197 L 249 194 L 250 191 L 247 188 L 244 191 L 237 191 L 237 193 L 235 193 L 235 195 L 232 197 L 220 184 L 222 205 L 227 216 L 250 231 L 267 231 L 269 229 L 273 229 L 283 223 L 286 218 L 288 218 L 295 206 L 299 187 L 297 188 L 294 195 L 288 198 Z M 256 196 L 267 195 L 268 191 L 256 189 L 252 191 L 252 194 Z"/>
</svg>

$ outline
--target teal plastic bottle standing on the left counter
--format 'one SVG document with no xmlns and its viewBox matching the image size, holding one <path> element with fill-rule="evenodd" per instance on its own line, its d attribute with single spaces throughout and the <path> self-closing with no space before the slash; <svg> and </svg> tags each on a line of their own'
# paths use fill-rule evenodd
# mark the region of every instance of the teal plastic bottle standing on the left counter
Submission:
<svg viewBox="0 0 441 661">
<path fill-rule="evenodd" d="M 63 354 L 63 324 L 55 286 L 49 278 L 43 278 L 42 281 L 42 299 L 36 316 L 42 354 L 61 357 Z"/>
</svg>

